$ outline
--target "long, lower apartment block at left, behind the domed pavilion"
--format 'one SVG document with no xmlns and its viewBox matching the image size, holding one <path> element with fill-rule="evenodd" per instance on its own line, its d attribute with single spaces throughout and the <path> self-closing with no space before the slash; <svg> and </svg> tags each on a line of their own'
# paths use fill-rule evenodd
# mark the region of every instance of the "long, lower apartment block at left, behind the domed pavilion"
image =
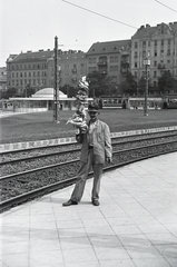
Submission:
<svg viewBox="0 0 177 267">
<path fill-rule="evenodd" d="M 82 51 L 58 51 L 59 87 L 76 87 L 86 75 L 86 58 Z M 20 96 L 27 87 L 36 91 L 53 87 L 55 52 L 48 49 L 10 55 L 7 59 L 7 87 L 18 89 Z"/>
</svg>

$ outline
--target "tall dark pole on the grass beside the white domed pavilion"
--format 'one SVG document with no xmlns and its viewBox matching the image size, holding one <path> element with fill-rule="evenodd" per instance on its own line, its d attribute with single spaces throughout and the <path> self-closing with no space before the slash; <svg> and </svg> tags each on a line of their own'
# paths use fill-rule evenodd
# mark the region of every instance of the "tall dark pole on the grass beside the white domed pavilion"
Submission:
<svg viewBox="0 0 177 267">
<path fill-rule="evenodd" d="M 58 68 L 58 37 L 55 37 L 55 90 L 53 90 L 53 120 L 59 123 L 59 88 L 58 88 L 58 78 L 59 78 L 59 68 Z"/>
</svg>

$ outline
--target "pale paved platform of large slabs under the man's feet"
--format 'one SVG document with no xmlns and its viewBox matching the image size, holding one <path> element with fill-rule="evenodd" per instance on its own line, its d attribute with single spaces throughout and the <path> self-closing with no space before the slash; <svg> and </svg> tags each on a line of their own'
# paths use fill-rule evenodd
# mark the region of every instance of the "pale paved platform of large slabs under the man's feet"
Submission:
<svg viewBox="0 0 177 267">
<path fill-rule="evenodd" d="M 99 207 L 73 186 L 0 215 L 0 267 L 176 267 L 177 152 L 104 174 Z"/>
</svg>

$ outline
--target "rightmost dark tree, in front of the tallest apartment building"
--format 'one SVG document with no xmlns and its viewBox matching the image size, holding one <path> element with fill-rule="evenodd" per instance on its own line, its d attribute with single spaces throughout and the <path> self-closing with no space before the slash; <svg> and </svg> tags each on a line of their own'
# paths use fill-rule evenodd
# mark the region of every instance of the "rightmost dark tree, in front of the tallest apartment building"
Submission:
<svg viewBox="0 0 177 267">
<path fill-rule="evenodd" d="M 175 79 L 171 76 L 169 70 L 165 70 L 161 77 L 158 78 L 158 88 L 165 93 L 166 91 L 170 91 L 174 88 Z"/>
</svg>

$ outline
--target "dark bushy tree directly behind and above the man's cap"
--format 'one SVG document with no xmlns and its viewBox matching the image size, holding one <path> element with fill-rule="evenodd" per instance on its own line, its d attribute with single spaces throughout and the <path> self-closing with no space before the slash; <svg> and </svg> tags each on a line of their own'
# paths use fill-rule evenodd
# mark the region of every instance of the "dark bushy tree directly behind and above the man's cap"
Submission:
<svg viewBox="0 0 177 267">
<path fill-rule="evenodd" d="M 99 71 L 92 71 L 88 73 L 87 80 L 89 82 L 89 97 L 110 95 L 112 85 L 108 76 L 99 73 Z"/>
</svg>

